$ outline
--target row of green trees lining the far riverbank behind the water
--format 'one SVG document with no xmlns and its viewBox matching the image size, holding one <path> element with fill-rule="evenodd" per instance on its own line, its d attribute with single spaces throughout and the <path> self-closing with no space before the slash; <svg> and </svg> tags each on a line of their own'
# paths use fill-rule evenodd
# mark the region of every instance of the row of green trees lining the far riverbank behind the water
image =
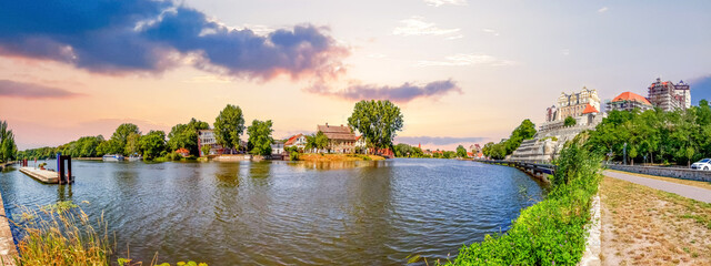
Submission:
<svg viewBox="0 0 711 266">
<path fill-rule="evenodd" d="M 358 102 L 348 121 L 351 131 L 361 132 L 368 146 L 377 149 L 392 147 L 395 132 L 401 131 L 403 125 L 400 109 L 390 101 Z M 272 152 L 271 144 L 274 143 L 274 139 L 271 120 L 253 120 L 251 125 L 244 126 L 242 109 L 228 104 L 220 111 L 212 125 L 217 143 L 228 151 L 244 150 L 254 155 L 269 155 Z M 188 150 L 191 156 L 199 156 L 200 151 L 209 152 L 209 146 L 198 145 L 198 131 L 209 129 L 209 123 L 191 119 L 186 124 L 172 126 L 168 134 L 153 130 L 142 134 L 136 124 L 124 123 L 116 129 L 109 140 L 104 140 L 102 135 L 82 136 L 57 147 L 26 150 L 20 152 L 20 155 L 26 158 L 49 158 L 61 152 L 72 157 L 121 154 L 142 155 L 144 160 L 176 160 L 180 157 L 174 153 L 179 149 Z M 244 131 L 249 135 L 246 146 L 241 144 Z M 322 150 L 329 143 L 330 140 L 323 132 L 307 136 L 309 150 Z"/>
</svg>

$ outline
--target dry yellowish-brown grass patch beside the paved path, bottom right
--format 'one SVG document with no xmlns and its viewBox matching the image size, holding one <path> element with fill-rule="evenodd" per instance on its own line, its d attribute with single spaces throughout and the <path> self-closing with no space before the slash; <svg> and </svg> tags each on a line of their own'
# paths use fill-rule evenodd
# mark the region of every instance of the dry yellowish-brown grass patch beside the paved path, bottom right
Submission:
<svg viewBox="0 0 711 266">
<path fill-rule="evenodd" d="M 711 265 L 711 204 L 605 177 L 603 264 Z"/>
</svg>

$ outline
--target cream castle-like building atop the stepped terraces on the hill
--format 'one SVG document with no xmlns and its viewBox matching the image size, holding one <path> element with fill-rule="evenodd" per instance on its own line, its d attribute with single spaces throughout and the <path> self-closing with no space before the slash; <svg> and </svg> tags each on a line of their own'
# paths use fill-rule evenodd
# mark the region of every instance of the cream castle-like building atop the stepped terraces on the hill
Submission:
<svg viewBox="0 0 711 266">
<path fill-rule="evenodd" d="M 578 93 L 565 94 L 563 92 L 558 98 L 558 104 L 555 106 L 558 109 L 557 114 L 553 115 L 553 119 L 550 121 L 564 120 L 568 116 L 581 116 L 588 104 L 592 105 L 597 110 L 600 110 L 600 98 L 598 98 L 597 90 L 590 90 L 583 86 L 582 91 Z M 547 112 L 551 111 L 548 110 Z"/>
</svg>

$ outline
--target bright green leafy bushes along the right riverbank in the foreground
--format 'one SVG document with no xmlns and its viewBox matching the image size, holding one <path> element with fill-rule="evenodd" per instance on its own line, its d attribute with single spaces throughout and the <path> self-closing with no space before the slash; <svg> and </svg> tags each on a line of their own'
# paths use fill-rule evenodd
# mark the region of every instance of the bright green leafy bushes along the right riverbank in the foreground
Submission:
<svg viewBox="0 0 711 266">
<path fill-rule="evenodd" d="M 447 265 L 575 265 L 585 247 L 600 158 L 577 139 L 561 151 L 547 198 L 521 212 L 505 234 L 464 246 Z"/>
</svg>

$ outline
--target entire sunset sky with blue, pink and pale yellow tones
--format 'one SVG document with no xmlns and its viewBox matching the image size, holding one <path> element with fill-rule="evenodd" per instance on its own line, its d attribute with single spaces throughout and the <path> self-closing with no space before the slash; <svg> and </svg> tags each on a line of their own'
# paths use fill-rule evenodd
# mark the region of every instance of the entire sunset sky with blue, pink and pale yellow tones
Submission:
<svg viewBox="0 0 711 266">
<path fill-rule="evenodd" d="M 561 92 L 647 95 L 657 78 L 711 99 L 711 2 L 472 0 L 4 1 L 0 120 L 20 150 L 143 133 L 227 104 L 273 136 L 402 110 L 395 142 L 499 141 Z"/>
</svg>

